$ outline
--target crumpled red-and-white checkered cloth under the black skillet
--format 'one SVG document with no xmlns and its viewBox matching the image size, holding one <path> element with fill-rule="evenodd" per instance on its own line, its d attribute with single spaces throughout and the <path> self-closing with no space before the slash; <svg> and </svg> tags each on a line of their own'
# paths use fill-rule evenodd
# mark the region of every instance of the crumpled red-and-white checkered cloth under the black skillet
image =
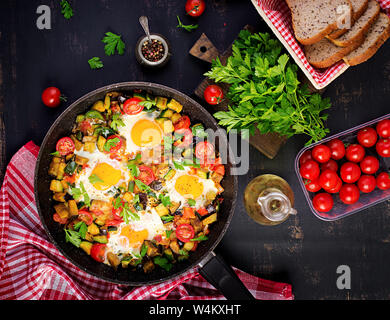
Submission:
<svg viewBox="0 0 390 320">
<path fill-rule="evenodd" d="M 39 219 L 33 192 L 38 152 L 29 142 L 12 158 L 0 191 L 1 300 L 224 299 L 196 268 L 169 282 L 134 289 L 75 267 L 49 241 Z M 289 284 L 235 271 L 257 299 L 294 298 Z"/>
</svg>

